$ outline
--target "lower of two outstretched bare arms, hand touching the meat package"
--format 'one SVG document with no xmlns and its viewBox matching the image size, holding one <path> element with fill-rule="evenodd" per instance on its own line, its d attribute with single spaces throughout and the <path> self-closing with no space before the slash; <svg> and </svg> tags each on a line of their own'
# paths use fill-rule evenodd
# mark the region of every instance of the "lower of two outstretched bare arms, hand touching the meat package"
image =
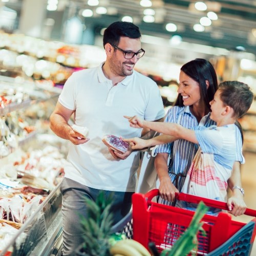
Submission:
<svg viewBox="0 0 256 256">
<path fill-rule="evenodd" d="M 141 139 L 138 137 L 131 138 L 131 139 L 123 139 L 123 141 L 132 142 L 131 143 L 132 150 L 140 150 L 141 148 L 144 148 L 144 147 L 165 144 L 165 143 L 173 142 L 175 140 L 176 140 L 176 138 L 174 136 L 170 136 L 170 135 L 166 135 L 166 134 L 158 135 L 149 140 L 144 140 L 144 139 Z"/>
</svg>

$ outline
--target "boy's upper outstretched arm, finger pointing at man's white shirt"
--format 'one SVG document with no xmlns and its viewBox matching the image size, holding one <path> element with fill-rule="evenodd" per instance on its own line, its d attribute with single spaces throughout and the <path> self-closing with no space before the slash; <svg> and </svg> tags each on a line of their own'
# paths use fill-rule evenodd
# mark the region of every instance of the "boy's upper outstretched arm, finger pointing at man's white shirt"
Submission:
<svg viewBox="0 0 256 256">
<path fill-rule="evenodd" d="M 165 122 L 151 122 L 143 120 L 137 116 L 130 117 L 124 116 L 130 122 L 130 125 L 135 128 L 148 128 L 159 133 L 174 136 L 176 139 L 184 139 L 193 143 L 198 143 L 196 133 L 193 130 L 189 130 L 177 123 L 165 123 Z"/>
</svg>

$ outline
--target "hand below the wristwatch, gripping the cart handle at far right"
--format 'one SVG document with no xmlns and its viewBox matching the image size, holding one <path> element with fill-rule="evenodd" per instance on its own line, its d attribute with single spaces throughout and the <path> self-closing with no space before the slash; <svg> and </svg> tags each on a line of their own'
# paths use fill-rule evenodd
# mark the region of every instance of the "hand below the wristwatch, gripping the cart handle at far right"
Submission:
<svg viewBox="0 0 256 256">
<path fill-rule="evenodd" d="M 246 210 L 246 204 L 244 202 L 244 197 L 239 189 L 233 190 L 232 196 L 227 200 L 227 206 L 229 208 L 228 212 L 234 216 L 240 216 L 244 214 Z"/>
</svg>

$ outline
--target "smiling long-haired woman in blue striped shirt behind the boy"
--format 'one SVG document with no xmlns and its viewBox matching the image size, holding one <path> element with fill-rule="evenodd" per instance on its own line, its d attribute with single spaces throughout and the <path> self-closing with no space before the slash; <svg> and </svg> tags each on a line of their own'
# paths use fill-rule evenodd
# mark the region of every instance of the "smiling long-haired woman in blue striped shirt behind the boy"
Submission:
<svg viewBox="0 0 256 256">
<path fill-rule="evenodd" d="M 209 118 L 209 102 L 218 89 L 217 75 L 211 63 L 205 59 L 195 59 L 181 67 L 179 96 L 171 108 L 165 122 L 179 123 L 186 128 L 196 125 L 209 127 L 215 124 Z M 237 154 L 228 186 L 232 191 L 227 204 L 230 213 L 238 216 L 244 213 L 246 205 L 241 191 L 240 162 L 242 155 L 241 126 L 237 126 Z M 159 178 L 159 203 L 170 204 L 175 200 L 175 193 L 181 191 L 188 168 L 198 150 L 198 145 L 185 140 L 159 145 L 155 153 L 155 167 Z M 169 164 L 167 164 L 170 156 Z M 238 189 L 237 189 L 238 188 Z M 233 205 L 233 209 L 231 208 Z M 232 209 L 232 210 L 231 210 Z"/>
</svg>

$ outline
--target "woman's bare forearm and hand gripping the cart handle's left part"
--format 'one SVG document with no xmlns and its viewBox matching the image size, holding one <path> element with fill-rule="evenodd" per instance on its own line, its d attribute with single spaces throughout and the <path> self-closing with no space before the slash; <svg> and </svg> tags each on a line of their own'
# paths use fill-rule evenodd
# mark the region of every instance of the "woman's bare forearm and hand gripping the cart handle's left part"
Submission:
<svg viewBox="0 0 256 256">
<path fill-rule="evenodd" d="M 158 153 L 155 157 L 155 168 L 160 181 L 159 195 L 164 200 L 171 202 L 175 200 L 175 193 L 179 190 L 174 186 L 168 175 L 167 159 L 167 153 Z"/>
</svg>

